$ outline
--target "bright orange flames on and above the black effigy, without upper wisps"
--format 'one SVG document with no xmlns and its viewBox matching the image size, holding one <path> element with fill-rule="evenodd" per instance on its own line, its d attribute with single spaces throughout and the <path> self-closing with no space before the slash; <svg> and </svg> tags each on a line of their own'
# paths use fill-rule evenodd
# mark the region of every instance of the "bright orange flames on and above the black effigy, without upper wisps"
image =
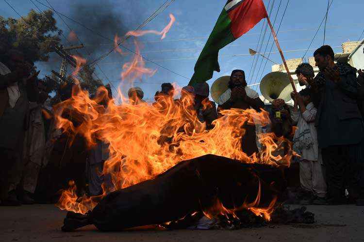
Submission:
<svg viewBox="0 0 364 242">
<path fill-rule="evenodd" d="M 104 195 L 149 180 L 183 160 L 210 153 L 246 163 L 289 165 L 291 156 L 273 154 L 279 145 L 273 142 L 272 134 L 261 137 L 265 148 L 259 154 L 248 157 L 241 151 L 241 137 L 245 130 L 238 127 L 245 122 L 253 123 L 256 119 L 262 125 L 268 124 L 269 117 L 265 111 L 223 110 L 224 116 L 214 121 L 215 127 L 206 130 L 205 123 L 198 120 L 193 108 L 193 97 L 186 95 L 178 102 L 165 98 L 161 102 L 166 106 L 145 103 L 116 106 L 109 102 L 109 106 L 102 109 L 88 97 L 87 92 L 78 91 L 71 99 L 55 106 L 58 128 L 69 134 L 83 135 L 90 145 L 95 143 L 94 137 L 109 144 L 110 157 L 105 162 L 103 173 L 111 175 L 113 187 L 104 186 Z M 162 106 L 164 109 L 161 109 Z M 83 117 L 78 127 L 62 118 L 62 113 L 69 108 Z M 58 206 L 84 213 L 95 206 L 95 199 L 81 198 L 79 201 L 74 192 L 65 191 Z M 253 208 L 256 204 L 259 204 L 258 200 L 244 206 Z M 251 210 L 269 214 L 272 209 Z"/>
</svg>

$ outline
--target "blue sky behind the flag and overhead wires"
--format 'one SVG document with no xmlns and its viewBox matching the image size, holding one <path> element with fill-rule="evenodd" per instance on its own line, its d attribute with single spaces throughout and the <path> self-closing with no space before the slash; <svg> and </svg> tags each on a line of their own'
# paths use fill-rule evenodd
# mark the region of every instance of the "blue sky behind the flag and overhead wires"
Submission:
<svg viewBox="0 0 364 242">
<path fill-rule="evenodd" d="M 2 0 L 0 0 L 1 2 Z M 21 15 L 27 14 L 30 9 L 38 11 L 30 0 L 8 0 L 12 6 Z M 45 0 L 40 0 L 47 5 Z M 75 3 L 93 3 L 99 2 L 95 0 L 49 0 L 54 9 L 64 15 L 70 15 L 70 9 Z M 110 0 L 113 11 L 116 15 L 120 14 L 120 20 L 128 30 L 135 29 L 146 18 L 151 15 L 155 9 L 157 9 L 165 0 Z M 269 0 L 264 0 L 265 6 L 268 9 Z M 280 0 L 270 0 L 270 4 L 274 2 L 273 10 L 271 14 L 271 20 L 273 22 L 275 15 L 278 11 L 277 21 L 275 29 L 278 29 L 279 22 L 287 4 L 287 0 L 281 0 L 281 7 L 278 8 Z M 41 10 L 47 8 L 35 2 Z M 163 82 L 176 82 L 179 86 L 185 86 L 188 83 L 188 79 L 182 77 L 191 77 L 193 75 L 194 65 L 199 56 L 199 53 L 205 44 L 212 28 L 215 25 L 216 19 L 220 14 L 226 0 L 175 0 L 164 12 L 158 15 L 155 19 L 148 23 L 144 30 L 162 30 L 169 21 L 168 15 L 172 13 L 176 17 L 176 22 L 172 26 L 171 30 L 167 33 L 166 38 L 160 41 L 160 36 L 157 35 L 145 35 L 138 38 L 142 42 L 142 54 L 149 60 L 153 60 L 161 66 L 167 69 L 173 70 L 181 76 L 175 75 L 163 68 L 160 68 L 153 63 L 146 62 L 148 68 L 157 69 L 154 76 L 142 80 L 136 80 L 134 86 L 141 87 L 145 92 L 145 97 L 152 98 L 155 91 L 160 89 L 160 85 Z M 271 6 L 271 5 L 269 5 Z M 281 48 L 286 52 L 285 58 L 300 58 L 303 56 L 303 49 L 307 49 L 314 36 L 316 29 L 318 28 L 323 16 L 326 13 L 327 1 L 326 0 L 290 0 L 286 14 L 284 15 L 281 29 L 279 31 L 278 39 L 281 43 Z M 102 9 L 95 9 L 95 11 L 102 11 Z M 5 17 L 15 17 L 17 14 L 5 3 L 0 3 L 0 15 Z M 363 0 L 345 0 L 345 1 L 333 1 L 326 28 L 326 44 L 333 47 L 340 46 L 345 41 L 357 41 L 364 28 L 364 4 Z M 72 16 L 75 20 L 79 20 L 84 25 L 88 26 L 87 17 L 92 18 L 93 13 L 89 16 Z M 60 29 L 64 30 L 67 36 L 69 30 L 62 23 L 57 15 L 57 25 Z M 78 19 L 79 18 L 79 19 Z M 81 20 L 80 20 L 81 19 Z M 85 20 L 86 19 L 86 20 Z M 71 28 L 79 28 L 75 23 L 65 19 L 66 23 Z M 221 72 L 214 73 L 213 79 L 208 81 L 211 85 L 212 82 L 219 76 L 229 75 L 233 69 L 243 69 L 246 71 L 248 77 L 248 83 L 259 82 L 261 77 L 271 72 L 272 63 L 262 61 L 258 59 L 256 67 L 254 68 L 254 75 L 252 75 L 252 62 L 253 57 L 247 55 L 248 49 L 256 49 L 258 38 L 262 29 L 264 21 L 262 20 L 247 34 L 236 40 L 220 51 L 219 63 Z M 92 26 L 88 26 L 92 28 Z M 124 28 L 125 29 L 125 28 Z M 85 30 L 87 32 L 87 30 Z M 121 32 L 120 32 L 121 31 Z M 122 35 L 125 30 L 115 29 L 115 33 Z M 264 32 L 264 31 L 263 31 Z M 102 33 L 102 31 L 101 31 Z M 77 32 L 76 32 L 77 34 Z M 87 32 L 89 36 L 93 35 L 92 32 Z M 102 33 L 109 39 L 114 38 L 114 33 Z M 268 40 L 270 31 L 267 30 L 265 34 L 264 44 L 262 45 L 261 52 L 264 52 L 266 42 Z M 90 51 L 98 48 L 99 46 L 87 45 L 87 35 L 84 35 L 81 41 L 86 45 Z M 362 36 L 363 38 L 364 36 Z M 269 52 L 272 45 L 272 37 L 269 40 L 266 51 Z M 66 43 L 66 42 L 65 42 Z M 107 49 L 112 48 L 109 45 L 110 42 L 102 40 L 102 50 L 107 52 Z M 314 43 L 311 48 L 319 47 L 323 44 L 323 26 L 319 30 Z M 128 45 L 129 47 L 132 45 Z M 258 47 L 259 49 L 259 47 Z M 106 51 L 105 51 L 106 50 Z M 298 51 L 295 51 L 298 50 Z M 273 46 L 273 52 L 277 51 L 276 46 Z M 311 57 L 314 50 L 310 50 L 307 53 L 307 57 Z M 334 48 L 335 52 L 341 52 L 341 48 Z M 94 60 L 99 57 L 102 51 L 95 51 L 91 56 L 84 54 L 84 57 L 90 60 Z M 231 55 L 240 55 L 232 57 Z M 54 57 L 55 62 L 60 63 L 60 59 Z M 114 86 L 120 84 L 120 71 L 122 64 L 127 61 L 129 57 L 121 57 L 116 53 L 112 53 L 110 57 L 105 58 L 99 62 L 99 66 L 108 76 Z M 280 55 L 277 53 L 270 54 L 270 59 L 281 63 Z M 262 64 L 261 64 L 262 62 Z M 50 74 L 50 68 L 43 63 L 37 63 L 38 68 L 41 70 L 42 75 Z M 259 66 L 261 66 L 258 72 Z M 265 68 L 264 68 L 265 66 Z M 98 76 L 107 83 L 105 76 L 97 68 Z M 130 85 L 123 87 L 122 91 L 126 93 Z M 259 90 L 259 88 L 258 88 Z"/>
</svg>

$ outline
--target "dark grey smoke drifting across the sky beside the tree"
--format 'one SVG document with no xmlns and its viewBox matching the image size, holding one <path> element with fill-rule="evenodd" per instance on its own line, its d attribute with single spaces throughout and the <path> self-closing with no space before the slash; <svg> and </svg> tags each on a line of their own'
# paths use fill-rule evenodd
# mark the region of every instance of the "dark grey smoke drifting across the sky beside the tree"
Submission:
<svg viewBox="0 0 364 242">
<path fill-rule="evenodd" d="M 120 4 L 125 4 L 125 2 L 111 2 L 110 0 L 82 1 L 76 3 L 68 0 L 65 4 L 68 6 L 68 10 L 62 11 L 62 14 L 83 24 L 88 29 L 61 15 L 70 27 L 70 30 L 58 15 L 54 13 L 53 16 L 57 20 L 57 26 L 63 30 L 64 35 L 68 38 L 67 41 L 63 36 L 60 36 L 61 44 L 69 46 L 83 43 L 83 48 L 77 49 L 77 51 L 71 50 L 70 53 L 72 55 L 81 55 L 88 62 L 94 61 L 114 47 L 113 40 L 115 34 L 123 36 L 127 31 L 135 28 L 141 22 L 137 6 L 130 2 L 125 8 L 120 7 Z M 116 12 L 116 9 L 118 11 L 121 9 L 121 12 Z M 75 36 L 70 37 L 70 33 L 75 34 L 77 38 Z M 123 61 L 125 57 L 113 52 L 108 56 L 108 60 Z M 49 61 L 39 62 L 38 66 L 42 69 L 43 73 L 46 72 L 44 74 L 50 75 L 51 70 L 59 71 L 61 61 L 60 56 L 56 53 L 51 53 Z M 71 67 L 69 66 L 68 68 Z M 68 71 L 68 75 L 69 73 Z"/>
</svg>

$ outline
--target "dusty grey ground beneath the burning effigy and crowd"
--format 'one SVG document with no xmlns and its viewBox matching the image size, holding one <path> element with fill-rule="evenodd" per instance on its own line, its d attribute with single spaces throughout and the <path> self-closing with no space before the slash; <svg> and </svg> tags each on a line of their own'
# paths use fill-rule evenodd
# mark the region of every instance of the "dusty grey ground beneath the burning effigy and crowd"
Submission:
<svg viewBox="0 0 364 242">
<path fill-rule="evenodd" d="M 66 214 L 54 205 L 0 207 L 0 241 L 364 241 L 364 207 L 308 206 L 315 213 L 312 225 L 292 224 L 240 230 L 138 230 L 99 232 L 94 226 L 64 233 Z"/>
</svg>

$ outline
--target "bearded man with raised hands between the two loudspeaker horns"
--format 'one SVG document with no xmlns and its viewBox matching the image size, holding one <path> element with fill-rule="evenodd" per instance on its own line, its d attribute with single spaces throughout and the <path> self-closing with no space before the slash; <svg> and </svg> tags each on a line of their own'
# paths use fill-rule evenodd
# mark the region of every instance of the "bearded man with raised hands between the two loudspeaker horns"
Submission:
<svg viewBox="0 0 364 242">
<path fill-rule="evenodd" d="M 248 88 L 247 85 L 244 71 L 233 70 L 230 76 L 229 89 L 217 100 L 219 105 L 217 109 L 240 108 L 245 110 L 254 108 L 260 111 L 260 108 L 264 107 L 264 103 L 260 100 L 258 93 Z M 255 125 L 245 123 L 242 128 L 246 130 L 242 138 L 242 150 L 250 156 L 254 152 L 258 152 Z"/>
</svg>

